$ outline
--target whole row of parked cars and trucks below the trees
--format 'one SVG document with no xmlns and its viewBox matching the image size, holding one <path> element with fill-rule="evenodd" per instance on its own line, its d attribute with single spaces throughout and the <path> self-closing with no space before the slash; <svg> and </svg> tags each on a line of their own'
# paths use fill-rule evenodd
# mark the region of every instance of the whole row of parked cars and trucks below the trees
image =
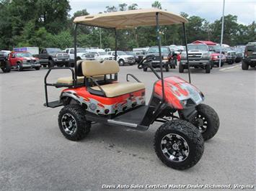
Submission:
<svg viewBox="0 0 256 191">
<path fill-rule="evenodd" d="M 208 45 L 206 45 L 208 43 Z M 211 73 L 211 68 L 216 65 L 219 67 L 221 57 L 221 67 L 227 63 L 241 62 L 243 70 L 249 66 L 254 67 L 255 43 L 250 42 L 246 47 L 222 47 L 211 41 L 195 41 L 187 45 L 190 67 L 202 68 L 206 73 Z M 133 65 L 140 63 L 147 55 L 154 55 L 152 67 L 160 67 L 160 57 L 158 47 L 134 48 L 133 51 L 118 51 L 117 61 L 119 65 Z M 245 50 L 244 50 L 245 49 Z M 220 54 L 221 52 L 221 54 Z M 59 48 L 43 48 L 39 52 L 38 47 L 14 47 L 14 51 L 1 50 L 1 70 L 8 72 L 12 68 L 23 70 L 35 68 L 40 70 L 43 67 L 74 67 L 74 47 L 61 50 Z M 244 57 L 244 58 L 243 58 Z M 110 49 L 100 49 L 97 47 L 76 48 L 76 60 L 115 60 L 115 51 Z M 179 72 L 183 73 L 187 69 L 187 59 L 185 47 L 179 45 L 162 46 L 162 64 L 166 71 L 175 68 L 177 61 L 180 61 Z M 210 69 L 209 69 L 210 67 Z M 148 70 L 147 67 L 143 68 Z"/>
</svg>

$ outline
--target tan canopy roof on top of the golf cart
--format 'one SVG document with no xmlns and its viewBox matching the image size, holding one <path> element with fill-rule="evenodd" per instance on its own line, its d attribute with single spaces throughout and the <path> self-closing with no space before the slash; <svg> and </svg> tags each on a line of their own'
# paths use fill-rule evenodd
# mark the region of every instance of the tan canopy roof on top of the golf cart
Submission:
<svg viewBox="0 0 256 191">
<path fill-rule="evenodd" d="M 159 13 L 159 25 L 186 23 L 187 19 L 161 9 L 138 9 L 117 11 L 76 17 L 74 23 L 88 24 L 97 27 L 127 29 L 139 26 L 155 26 L 156 12 Z"/>
</svg>

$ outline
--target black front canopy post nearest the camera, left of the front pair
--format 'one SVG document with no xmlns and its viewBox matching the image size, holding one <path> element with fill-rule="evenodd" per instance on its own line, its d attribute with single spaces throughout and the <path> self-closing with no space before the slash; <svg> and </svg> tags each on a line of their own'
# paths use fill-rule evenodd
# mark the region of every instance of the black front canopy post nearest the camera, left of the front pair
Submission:
<svg viewBox="0 0 256 191">
<path fill-rule="evenodd" d="M 165 100 L 164 73 L 163 73 L 163 66 L 162 66 L 161 36 L 160 36 L 160 27 L 159 27 L 159 12 L 156 12 L 156 40 L 158 42 L 159 57 L 160 57 L 160 69 L 161 69 L 161 80 L 162 80 L 162 101 L 164 101 Z"/>
</svg>

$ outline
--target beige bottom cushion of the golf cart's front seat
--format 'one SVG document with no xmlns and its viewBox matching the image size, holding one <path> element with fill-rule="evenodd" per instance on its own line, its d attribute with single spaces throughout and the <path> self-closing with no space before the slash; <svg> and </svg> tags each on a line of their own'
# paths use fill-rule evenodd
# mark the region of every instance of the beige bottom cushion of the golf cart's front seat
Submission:
<svg viewBox="0 0 256 191">
<path fill-rule="evenodd" d="M 132 93 L 137 90 L 145 89 L 145 85 L 143 83 L 110 83 L 106 85 L 100 85 L 102 90 L 105 91 L 107 98 L 113 98 L 118 95 L 123 95 L 126 93 Z M 99 87 L 94 86 L 92 87 L 93 90 L 100 90 Z"/>
</svg>

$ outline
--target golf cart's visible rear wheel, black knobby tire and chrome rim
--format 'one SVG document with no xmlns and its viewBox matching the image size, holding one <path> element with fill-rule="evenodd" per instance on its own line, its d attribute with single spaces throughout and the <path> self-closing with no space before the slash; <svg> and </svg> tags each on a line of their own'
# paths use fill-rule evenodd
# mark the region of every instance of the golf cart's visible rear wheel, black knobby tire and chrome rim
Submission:
<svg viewBox="0 0 256 191">
<path fill-rule="evenodd" d="M 89 134 L 91 122 L 85 118 L 85 111 L 80 105 L 72 104 L 61 109 L 58 126 L 66 139 L 79 141 Z"/>
</svg>

